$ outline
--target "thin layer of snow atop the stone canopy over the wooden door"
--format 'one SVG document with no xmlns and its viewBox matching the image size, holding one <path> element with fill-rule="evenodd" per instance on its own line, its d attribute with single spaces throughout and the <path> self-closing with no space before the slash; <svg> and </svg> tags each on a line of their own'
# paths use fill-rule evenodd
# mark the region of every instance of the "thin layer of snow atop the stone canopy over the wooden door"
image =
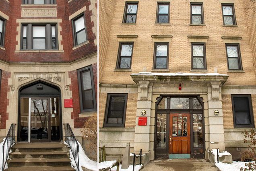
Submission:
<svg viewBox="0 0 256 171">
<path fill-rule="evenodd" d="M 219 73 L 207 73 L 207 74 L 200 74 L 200 73 L 183 73 L 183 72 L 177 72 L 177 73 L 157 73 L 157 72 L 139 72 L 137 74 L 131 74 L 131 76 L 134 75 L 152 75 L 152 76 L 228 76 L 227 74 L 219 74 Z"/>
</svg>

